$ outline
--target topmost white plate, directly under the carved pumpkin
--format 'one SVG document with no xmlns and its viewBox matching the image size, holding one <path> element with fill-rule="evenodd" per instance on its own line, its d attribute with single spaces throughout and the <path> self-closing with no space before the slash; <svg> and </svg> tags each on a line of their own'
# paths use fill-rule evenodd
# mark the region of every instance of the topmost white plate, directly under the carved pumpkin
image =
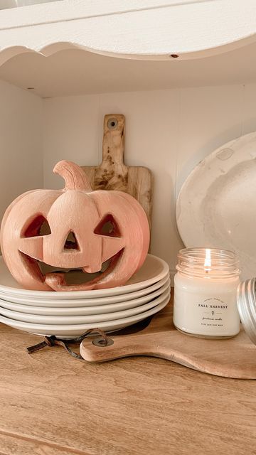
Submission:
<svg viewBox="0 0 256 455">
<path fill-rule="evenodd" d="M 37 299 L 91 299 L 98 297 L 116 296 L 138 291 L 159 282 L 169 273 L 169 265 L 159 257 L 147 255 L 146 260 L 137 273 L 135 273 L 124 286 L 109 289 L 94 289 L 92 291 L 30 291 L 22 289 L 11 276 L 0 258 L 0 292 L 2 296 L 36 297 Z M 1 298 L 3 298 L 1 296 Z"/>
</svg>

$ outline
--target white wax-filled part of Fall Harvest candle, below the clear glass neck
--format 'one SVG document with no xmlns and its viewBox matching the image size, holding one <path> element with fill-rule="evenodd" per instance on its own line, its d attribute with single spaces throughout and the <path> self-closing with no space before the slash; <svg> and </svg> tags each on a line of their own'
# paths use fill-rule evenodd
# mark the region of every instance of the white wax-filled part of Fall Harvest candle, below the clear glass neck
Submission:
<svg viewBox="0 0 256 455">
<path fill-rule="evenodd" d="M 236 304 L 238 277 L 174 278 L 174 325 L 184 332 L 234 336 L 240 330 Z"/>
</svg>

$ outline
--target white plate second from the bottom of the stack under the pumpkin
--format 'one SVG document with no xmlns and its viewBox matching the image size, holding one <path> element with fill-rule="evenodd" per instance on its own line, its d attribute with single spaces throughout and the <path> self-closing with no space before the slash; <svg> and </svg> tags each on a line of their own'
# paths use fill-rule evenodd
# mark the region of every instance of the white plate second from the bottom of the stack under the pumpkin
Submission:
<svg viewBox="0 0 256 455">
<path fill-rule="evenodd" d="M 113 313 L 92 314 L 90 316 L 45 316 L 38 314 L 21 313 L 19 311 L 12 311 L 0 307 L 0 314 L 1 316 L 6 316 L 7 318 L 15 319 L 16 321 L 50 325 L 87 324 L 104 321 L 115 321 L 116 319 L 123 319 L 129 316 L 134 316 L 135 314 L 144 313 L 144 311 L 147 311 L 154 306 L 161 304 L 167 296 L 170 296 L 170 291 L 171 289 L 168 287 L 163 294 L 156 297 L 156 299 L 152 299 L 147 304 L 139 305 L 135 308 L 127 309 L 124 311 L 114 311 Z"/>
</svg>

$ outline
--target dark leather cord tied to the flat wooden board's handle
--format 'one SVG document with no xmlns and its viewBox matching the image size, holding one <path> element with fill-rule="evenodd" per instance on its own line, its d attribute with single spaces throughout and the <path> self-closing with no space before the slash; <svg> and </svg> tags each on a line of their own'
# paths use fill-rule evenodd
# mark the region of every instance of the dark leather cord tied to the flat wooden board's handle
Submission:
<svg viewBox="0 0 256 455">
<path fill-rule="evenodd" d="M 87 337 L 91 333 L 99 333 L 99 335 L 102 336 L 102 346 L 107 346 L 108 338 L 107 338 L 106 333 L 104 331 L 102 331 L 100 328 L 91 328 L 90 330 L 87 330 L 85 333 L 83 333 L 81 336 L 78 336 L 78 338 L 65 339 L 65 338 L 56 338 L 55 335 L 45 336 L 41 343 L 35 344 L 34 346 L 30 346 L 29 348 L 26 348 L 26 349 L 28 351 L 28 354 L 32 354 L 32 353 L 36 352 L 36 350 L 46 348 L 46 346 L 48 346 L 50 348 L 53 346 L 62 346 L 65 350 L 68 351 L 68 353 L 70 355 L 72 355 L 72 357 L 81 360 L 82 355 L 75 353 L 75 351 L 72 350 L 68 346 L 68 344 L 81 343 L 81 341 L 84 340 L 85 337 Z"/>
</svg>

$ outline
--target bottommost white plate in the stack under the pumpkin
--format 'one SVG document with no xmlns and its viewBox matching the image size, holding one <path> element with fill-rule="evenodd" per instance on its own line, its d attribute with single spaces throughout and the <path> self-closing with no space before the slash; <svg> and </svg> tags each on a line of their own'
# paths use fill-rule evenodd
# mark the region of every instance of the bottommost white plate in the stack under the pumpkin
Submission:
<svg viewBox="0 0 256 455">
<path fill-rule="evenodd" d="M 105 321 L 99 323 L 88 323 L 88 324 L 75 324 L 75 325 L 63 325 L 63 326 L 54 326 L 54 325 L 47 325 L 47 324 L 36 324 L 36 323 L 29 323 L 29 322 L 21 322 L 15 321 L 14 319 L 6 318 L 4 316 L 0 316 L 0 322 L 6 324 L 7 326 L 11 326 L 13 328 L 18 328 L 19 330 L 34 333 L 36 335 L 55 335 L 58 338 L 75 338 L 76 336 L 82 335 L 88 329 L 91 328 L 101 328 L 106 332 L 110 331 L 117 331 L 121 328 L 132 326 L 132 324 L 142 321 L 149 316 L 157 313 L 161 309 L 164 308 L 169 302 L 169 296 L 159 305 L 154 306 L 148 311 L 144 311 L 144 313 L 137 314 L 135 316 L 129 316 L 123 319 L 117 319 L 117 321 Z"/>
</svg>

